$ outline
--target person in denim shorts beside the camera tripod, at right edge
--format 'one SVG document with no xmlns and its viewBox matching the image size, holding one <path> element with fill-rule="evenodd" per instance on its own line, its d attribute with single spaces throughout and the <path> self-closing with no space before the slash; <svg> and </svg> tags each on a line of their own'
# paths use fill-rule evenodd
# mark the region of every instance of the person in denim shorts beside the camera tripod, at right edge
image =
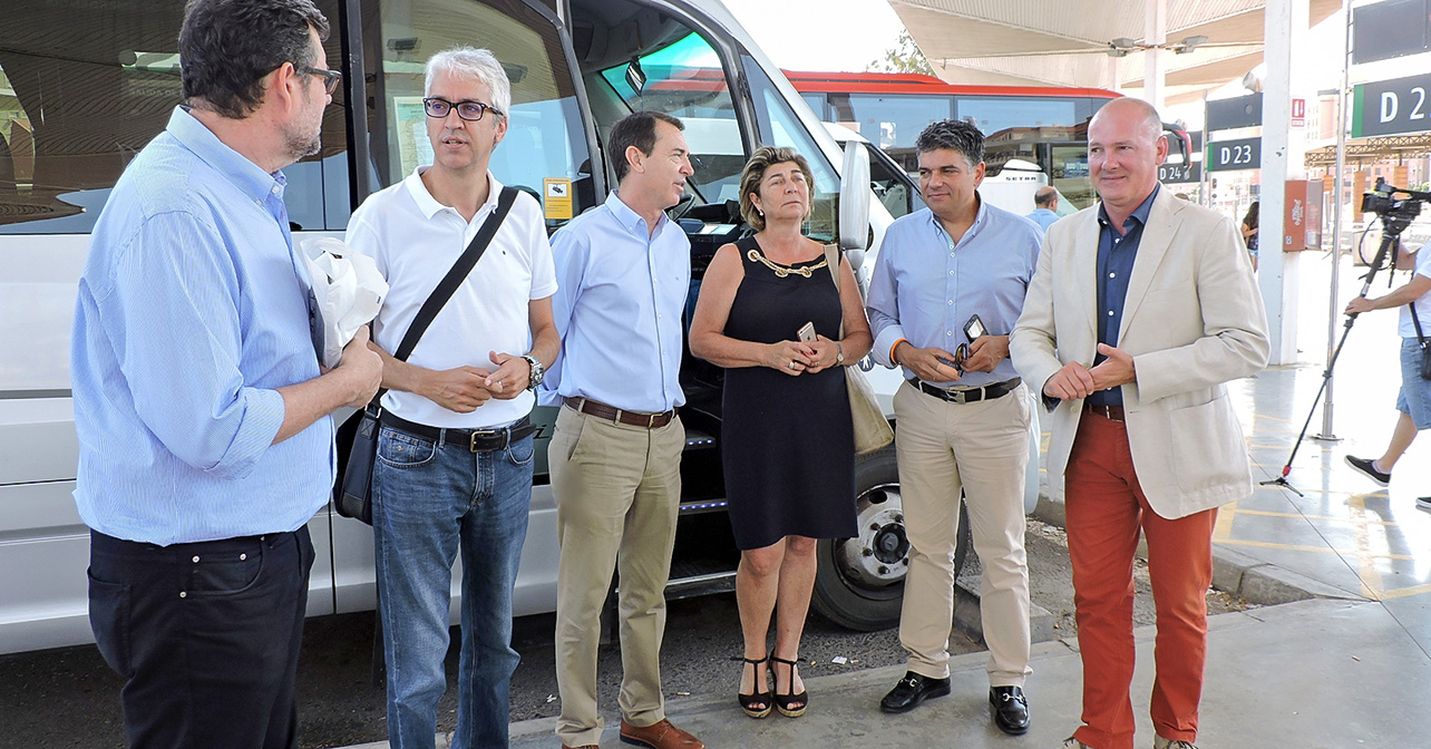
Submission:
<svg viewBox="0 0 1431 749">
<path fill-rule="evenodd" d="M 1415 268 L 1411 281 L 1384 296 L 1357 296 L 1347 304 L 1348 315 L 1372 309 L 1401 309 L 1401 392 L 1397 394 L 1397 427 L 1379 458 L 1347 455 L 1347 464 L 1379 485 L 1391 484 L 1391 468 L 1411 447 L 1420 430 L 1431 430 L 1431 381 L 1421 378 L 1421 338 L 1431 337 L 1431 252 L 1400 249 L 1398 268 Z M 1420 329 L 1417 329 L 1420 325 Z M 1418 497 L 1417 507 L 1431 510 L 1431 497 Z"/>
</svg>

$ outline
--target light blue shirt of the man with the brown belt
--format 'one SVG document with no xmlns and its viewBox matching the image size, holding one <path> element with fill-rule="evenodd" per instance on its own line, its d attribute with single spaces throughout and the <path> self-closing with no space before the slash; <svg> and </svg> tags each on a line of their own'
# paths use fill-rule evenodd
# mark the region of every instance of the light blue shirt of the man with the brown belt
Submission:
<svg viewBox="0 0 1431 749">
<path fill-rule="evenodd" d="M 551 238 L 552 311 L 561 355 L 541 402 L 582 397 L 627 411 L 670 411 L 681 391 L 681 314 L 691 286 L 691 242 L 668 216 L 655 233 L 617 193 Z M 560 397 L 558 397 L 560 395 Z"/>
</svg>

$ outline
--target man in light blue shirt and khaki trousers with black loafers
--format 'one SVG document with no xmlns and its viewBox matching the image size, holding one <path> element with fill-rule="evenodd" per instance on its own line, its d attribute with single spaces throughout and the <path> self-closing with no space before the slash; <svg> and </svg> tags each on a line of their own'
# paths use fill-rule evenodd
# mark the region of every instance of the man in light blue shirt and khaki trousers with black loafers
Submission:
<svg viewBox="0 0 1431 749">
<path fill-rule="evenodd" d="M 1037 266 L 1043 232 L 979 198 L 983 135 L 964 122 L 920 133 L 927 209 L 884 233 L 870 281 L 871 355 L 903 367 L 894 395 L 909 576 L 900 643 L 904 679 L 880 702 L 889 713 L 949 695 L 959 493 L 964 491 L 989 643 L 989 706 L 1006 733 L 1029 729 L 1029 571 L 1023 483 L 1029 395 L 1009 361 L 1009 331 Z M 977 319 L 983 331 L 975 329 Z M 960 349 L 966 344 L 967 351 Z"/>
</svg>

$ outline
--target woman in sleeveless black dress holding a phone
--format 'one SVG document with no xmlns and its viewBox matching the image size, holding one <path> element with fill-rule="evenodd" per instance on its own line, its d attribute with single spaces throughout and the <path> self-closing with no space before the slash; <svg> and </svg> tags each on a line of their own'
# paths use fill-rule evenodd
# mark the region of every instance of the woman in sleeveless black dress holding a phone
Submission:
<svg viewBox="0 0 1431 749">
<path fill-rule="evenodd" d="M 850 264 L 840 259 L 837 291 L 824 246 L 800 233 L 811 182 L 809 162 L 793 149 L 756 149 L 741 173 L 740 209 L 757 233 L 716 252 L 691 321 L 691 352 L 727 369 L 721 454 L 741 549 L 736 600 L 746 637 L 738 700 L 751 717 L 771 707 L 791 717 L 804 712 L 796 662 L 816 543 L 856 533 L 841 365 L 859 362 L 873 339 Z M 814 337 L 801 341 L 807 324 Z"/>
</svg>

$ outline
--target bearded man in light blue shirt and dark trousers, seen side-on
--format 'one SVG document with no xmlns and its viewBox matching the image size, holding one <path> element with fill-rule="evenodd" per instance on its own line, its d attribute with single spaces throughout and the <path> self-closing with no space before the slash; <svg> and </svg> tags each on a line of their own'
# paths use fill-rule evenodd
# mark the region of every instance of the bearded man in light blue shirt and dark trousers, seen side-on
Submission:
<svg viewBox="0 0 1431 749">
<path fill-rule="evenodd" d="M 309 0 L 192 1 L 187 106 L 114 186 L 80 278 L 74 501 L 132 748 L 298 746 L 328 414 L 382 369 L 362 332 L 319 369 L 283 208 L 279 169 L 316 153 L 338 82 L 326 33 Z"/>
</svg>

